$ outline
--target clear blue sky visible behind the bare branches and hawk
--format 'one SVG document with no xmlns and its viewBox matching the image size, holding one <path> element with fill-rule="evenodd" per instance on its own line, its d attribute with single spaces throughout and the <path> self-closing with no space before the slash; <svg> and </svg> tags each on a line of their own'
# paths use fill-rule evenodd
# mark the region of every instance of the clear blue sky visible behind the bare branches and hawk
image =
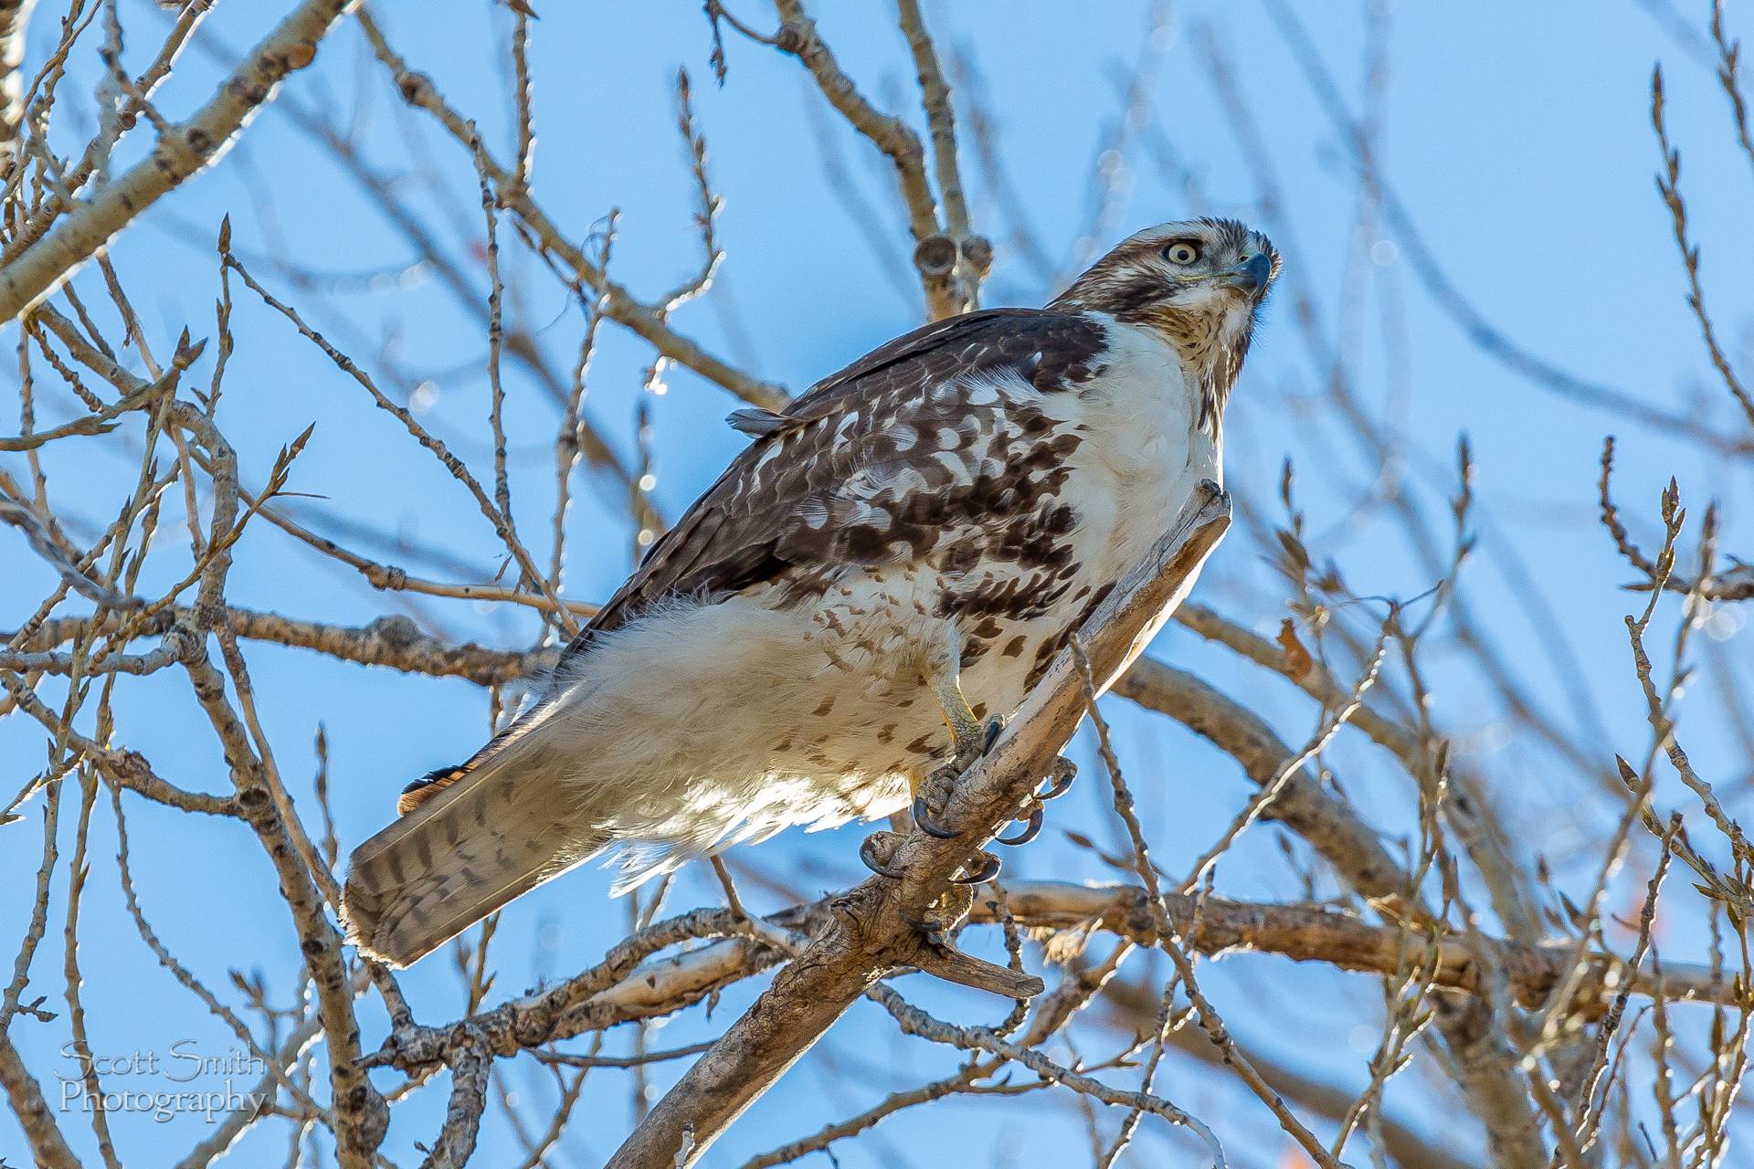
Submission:
<svg viewBox="0 0 1754 1169">
<path fill-rule="evenodd" d="M 1698 44 L 1677 37 L 1666 19 L 1636 4 L 1379 4 L 1387 37 L 1386 100 L 1379 109 L 1382 172 L 1454 287 L 1517 345 L 1577 377 L 1731 428 L 1728 396 L 1712 380 L 1698 344 L 1670 223 L 1652 186 L 1659 152 L 1649 128 L 1649 82 L 1654 61 L 1661 60 L 1670 130 L 1684 152 L 1684 193 L 1694 235 L 1705 242 L 1707 294 L 1731 354 L 1745 356 L 1750 293 L 1740 273 L 1754 261 L 1754 237 L 1745 231 L 1754 175 L 1749 158 L 1735 149 L 1726 102 L 1710 67 L 1698 58 Z M 217 5 L 203 33 L 216 46 L 214 56 L 191 51 L 158 98 L 160 109 L 177 116 L 202 102 L 217 77 L 214 60 L 235 60 L 270 19 L 270 7 Z M 1703 5 L 1696 7 L 1701 11 L 1689 11 L 1684 19 L 1703 16 Z M 479 4 L 377 9 L 398 51 L 431 74 L 456 107 L 477 117 L 486 140 L 505 158 L 512 124 L 503 84 L 505 11 Z M 531 40 L 535 193 L 574 238 L 584 238 L 612 209 L 619 210 L 610 263 L 619 280 L 637 294 L 652 296 L 698 265 L 698 237 L 691 228 L 695 195 L 674 128 L 674 77 L 686 65 L 710 145 L 712 181 L 724 196 L 719 235 L 728 258 L 716 289 L 682 310 L 677 326 L 796 391 L 919 322 L 917 289 L 891 277 L 895 259 L 907 256 L 907 240 L 888 163 L 824 110 L 795 60 L 726 30 L 730 75 L 719 88 L 707 65 L 709 32 L 698 5 L 551 0 L 538 9 L 542 19 Z M 123 11 L 137 30 L 130 35 L 130 58 L 144 60 L 154 47 L 147 33 L 161 28 L 163 18 L 151 5 L 125 4 Z M 756 26 L 770 23 L 756 4 L 742 4 L 738 11 Z M 1366 9 L 1301 4 L 1296 11 L 1345 100 L 1361 109 Z M 917 123 L 905 42 L 888 5 L 821 2 L 812 12 L 863 91 Z M 996 114 L 996 145 L 1009 182 L 1056 261 L 1073 254 L 1087 230 L 1089 175 L 1110 144 L 1117 79 L 1130 77 L 1142 54 L 1161 54 L 1145 89 L 1149 116 L 1124 144 L 1124 195 L 1100 244 L 1163 219 L 1235 214 L 1266 228 L 1287 252 L 1282 286 L 1228 417 L 1228 482 L 1238 501 L 1277 517 L 1279 468 L 1289 457 L 1298 468 L 1300 505 L 1310 515 L 1310 528 L 1323 533 L 1323 552 L 1338 559 L 1356 592 L 1414 596 L 1435 582 L 1408 554 L 1387 508 L 1351 507 L 1359 489 L 1382 482 L 1386 471 L 1347 436 L 1323 398 L 1328 368 L 1316 354 L 1345 354 L 1358 396 L 1401 452 L 1401 463 L 1387 473 L 1405 470 L 1419 507 L 1437 517 L 1438 533 L 1445 533 L 1444 498 L 1454 443 L 1466 431 L 1477 461 L 1486 552 L 1465 578 L 1470 606 L 1561 726 L 1589 731 L 1586 747 L 1593 759 L 1607 764 L 1614 750 L 1642 757 L 1647 731 L 1621 624 L 1633 598 L 1617 587 L 1628 573 L 1594 522 L 1601 438 L 1610 431 L 1621 438 L 1621 503 L 1645 543 L 1656 535 L 1656 492 L 1675 475 L 1696 510 L 1712 496 L 1729 505 L 1731 549 L 1754 547 L 1747 459 L 1726 466 L 1519 375 L 1484 352 L 1431 298 L 1407 263 L 1403 240 L 1393 231 L 1361 238 L 1358 182 L 1345 138 L 1323 112 L 1266 7 L 1175 5 L 1156 49 L 1147 11 L 1138 4 L 975 0 L 928 5 L 928 18 L 945 54 L 966 53 L 975 61 L 980 89 Z M 39 12 L 32 61 L 42 60 L 53 33 L 53 14 Z M 1279 186 L 1277 209 L 1263 209 L 1261 172 L 1238 147 L 1212 84 L 1207 63 L 1214 46 L 1258 126 L 1259 158 Z M 68 98 L 89 93 L 93 65 L 89 53 L 75 60 L 70 86 L 86 88 L 67 89 Z M 337 32 L 317 63 L 293 77 L 286 96 L 332 112 L 337 124 L 356 121 L 367 154 L 386 175 L 402 175 L 398 189 L 447 242 L 484 296 L 484 270 L 467 247 L 481 233 L 468 158 L 400 107 L 358 32 L 351 26 Z M 67 102 L 68 117 L 75 117 L 77 105 Z M 72 121 L 63 142 L 84 130 Z M 135 144 L 125 156 L 137 158 L 142 149 Z M 1173 168 L 1163 165 L 1168 154 Z M 875 209 L 875 226 L 865 212 L 837 198 L 824 158 L 847 177 L 859 203 Z M 423 170 L 444 175 L 449 195 L 435 198 L 419 181 Z M 1047 282 L 1005 245 L 1009 216 L 966 152 L 965 175 L 973 188 L 979 226 L 1000 244 L 989 303 L 1042 303 L 1051 294 Z M 232 216 L 239 252 L 258 279 L 309 310 L 312 322 L 372 368 L 391 396 L 426 386 L 423 419 L 486 473 L 482 326 L 437 280 L 403 272 L 410 259 L 405 240 L 282 109 L 267 109 L 225 163 L 163 200 L 118 240 L 116 266 L 160 351 L 184 326 L 195 337 L 212 333 L 217 294 L 212 237 L 225 214 Z M 540 272 L 538 261 L 510 245 L 510 226 L 502 224 L 507 265 L 523 289 L 509 312 L 538 335 L 560 368 L 570 368 L 582 326 L 579 308 L 565 287 Z M 277 263 L 335 277 L 333 287 L 302 291 Z M 95 301 L 102 282 L 93 284 L 93 273 L 86 273 L 79 287 L 93 293 L 88 301 Z M 460 485 L 282 319 L 240 286 L 233 294 L 237 354 L 226 375 L 221 422 L 240 452 L 246 482 L 260 484 L 275 450 L 316 422 L 295 470 L 295 489 L 323 496 L 323 507 L 372 529 L 444 547 L 460 561 L 433 566 L 410 557 L 405 561 L 410 570 L 446 580 L 465 578 L 465 566 L 491 575 L 493 533 Z M 1294 314 L 1300 294 L 1321 314 L 1314 351 Z M 649 361 L 649 351 L 635 338 L 605 328 L 586 405 L 628 457 Z M 198 384 L 205 384 L 210 363 L 209 351 L 195 372 Z M 545 554 L 556 412 L 521 372 L 509 372 L 507 389 L 514 501 L 524 531 Z M 61 421 L 74 405 L 65 393 L 49 393 L 39 405 L 39 419 Z M 667 393 L 649 400 L 652 494 L 667 515 L 681 514 L 744 442 L 721 421 L 737 405 L 688 372 L 672 372 Z M 137 443 L 139 429 L 125 428 L 111 440 L 61 443 L 47 461 L 51 498 L 82 517 L 84 531 L 125 498 L 137 470 Z M 16 468 L 16 456 L 0 459 Z M 582 478 L 575 489 L 581 505 L 568 519 L 575 559 L 567 589 L 582 599 L 600 599 L 630 568 L 631 531 L 602 491 Z M 168 501 L 165 538 L 174 540 L 181 529 L 181 499 Z M 1529 610 L 1517 599 L 1515 578 L 1501 568 L 1505 554 L 1514 556 L 1515 571 L 1535 582 L 1544 608 Z M 0 624 L 11 627 L 49 591 L 51 573 L 7 529 L 0 529 L 0 564 L 5 566 Z M 174 580 L 182 564 L 174 550 L 165 550 L 144 587 Z M 398 598 L 374 592 L 351 570 L 267 524 L 246 535 L 230 598 L 237 605 L 339 624 L 403 612 Z M 1286 615 L 1284 587 L 1244 531 L 1221 549 L 1196 599 L 1263 633 L 1275 631 Z M 437 601 L 423 605 L 421 613 L 435 633 L 502 647 L 524 647 L 537 631 L 526 610 L 507 606 Z M 1731 654 L 1740 648 L 1745 657 L 1747 634 L 1733 636 L 1740 620 L 1738 613 L 1724 613 L 1708 633 L 1729 638 L 1714 645 Z M 1556 640 L 1570 647 L 1575 666 L 1558 652 Z M 307 806 L 316 768 L 312 741 L 317 726 L 324 727 L 344 848 L 389 817 L 395 792 L 409 776 L 465 757 L 488 731 L 482 694 L 465 682 L 365 670 L 272 645 L 246 648 L 275 757 Z M 1314 727 L 1314 710 L 1289 687 L 1179 627 L 1172 626 L 1152 652 L 1198 670 L 1261 710 L 1289 741 L 1301 741 Z M 1456 733 L 1463 754 L 1494 778 L 1505 818 L 1540 824 L 1529 848 L 1547 854 L 1563 885 L 1573 892 L 1587 889 L 1589 848 L 1614 811 L 1601 790 L 1507 722 L 1496 699 L 1454 654 L 1438 648 L 1431 664 L 1435 717 Z M 1561 685 L 1566 673 L 1580 680 L 1582 701 L 1573 701 Z M 56 694 L 53 684 L 46 692 Z M 226 789 L 223 759 L 179 673 L 125 680 L 121 696 L 118 743 L 142 750 L 163 775 L 186 787 Z M 1738 759 L 1733 738 L 1714 726 L 1715 699 L 1700 694 L 1693 701 L 1694 761 L 1708 775 L 1738 778 L 1747 764 Z M 1159 855 L 1175 868 L 1198 855 L 1251 787 L 1233 762 L 1179 726 L 1140 715 L 1119 699 L 1110 699 L 1110 706 L 1147 827 Z M 1582 724 L 1577 706 L 1593 712 Z M 40 743 L 35 724 L 18 717 L 0 720 L 0 759 L 11 762 L 4 778 L 12 790 L 40 766 Z M 1082 740 L 1075 754 L 1087 764 L 1087 776 L 1100 776 Z M 1337 745 L 1331 762 L 1366 818 L 1389 834 L 1412 827 L 1405 776 L 1351 740 Z M 1116 825 L 1100 789 L 1100 780 L 1084 783 L 1054 808 L 1054 825 L 1114 841 Z M 1691 808 L 1682 796 L 1665 787 L 1661 801 Z M 75 806 L 75 794 L 63 792 L 63 847 Z M 277 1001 L 289 1003 L 296 994 L 289 974 L 295 939 L 274 899 L 272 873 L 247 831 L 163 813 L 140 801 L 128 804 L 128 827 L 142 904 L 172 950 L 221 990 L 228 990 L 226 969 L 260 967 Z M 0 899 L 0 936 L 16 938 L 28 911 L 23 890 L 37 866 L 35 808 L 26 824 L 0 832 L 7 838 L 0 848 L 0 882 L 21 890 Z M 859 829 L 788 834 L 738 859 L 816 894 L 856 880 L 858 840 Z M 93 1046 L 163 1050 L 184 1038 L 216 1052 L 233 1046 L 228 1032 L 156 967 L 135 936 L 114 880 L 114 841 L 105 799 L 91 832 L 93 878 L 81 934 Z M 1298 855 L 1307 859 L 1307 850 Z M 1649 864 L 1649 850 L 1642 855 Z M 1024 876 L 1112 878 L 1054 831 L 1007 861 Z M 1635 855 L 1629 882 L 1642 880 L 1638 864 Z M 626 906 L 607 901 L 607 883 L 602 871 L 581 871 L 514 906 L 496 941 L 498 990 L 565 974 L 598 957 L 626 920 Z M 1258 827 L 1244 838 L 1219 869 L 1219 892 L 1247 899 L 1301 896 L 1280 857 L 1277 829 Z M 58 922 L 63 894 L 65 873 L 51 922 Z M 745 896 L 758 906 L 779 904 L 761 889 Z M 679 882 L 670 908 L 716 899 L 710 876 L 691 873 Z M 1698 943 L 1696 922 L 1682 915 L 1673 931 L 1670 945 L 1677 959 L 1701 957 L 1696 945 L 1689 946 Z M 58 987 L 58 925 L 51 927 L 35 967 L 37 990 L 51 999 Z M 1245 1041 L 1337 1083 L 1363 1081 L 1379 1001 L 1370 980 L 1268 957 L 1217 962 L 1207 980 Z M 456 981 L 442 957 L 405 974 L 403 985 L 428 1020 L 449 1018 L 458 1010 Z M 900 985 L 924 1006 L 958 1018 L 989 1020 L 1003 1013 L 993 1003 L 924 985 L 921 978 Z M 652 1045 L 714 1034 L 752 990 L 726 994 L 710 1020 L 693 1011 L 670 1022 L 654 1032 Z M 363 1015 L 370 1043 L 381 1034 L 382 1018 L 370 1004 Z M 39 1074 L 70 1067 L 56 1055 L 67 1039 L 65 1013 L 51 1025 L 21 1022 L 14 1036 Z M 617 1034 L 610 1043 L 610 1050 L 624 1050 L 628 1036 Z M 1359 1050 L 1358 1043 L 1365 1046 Z M 896 1036 L 886 1018 L 861 1004 L 809 1064 L 751 1109 L 710 1164 L 738 1164 L 947 1067 L 938 1050 Z M 654 1071 L 656 1090 L 679 1071 L 681 1064 Z M 602 1083 L 588 1094 L 588 1108 L 553 1164 L 596 1164 L 614 1148 L 630 1123 L 619 1074 L 598 1074 Z M 509 1081 L 547 1099 L 544 1076 L 528 1067 L 510 1069 Z M 1230 1083 L 1203 1066 L 1172 1059 L 1161 1087 L 1212 1122 L 1233 1143 L 1238 1164 L 1277 1164 L 1279 1137 L 1270 1118 Z M 1454 1106 L 1445 1092 L 1426 1062 L 1391 1087 L 1389 1108 L 1438 1132 Z M 398 1164 L 417 1160 L 412 1143 L 431 1137 L 440 1109 L 442 1094 L 431 1088 L 400 1106 L 386 1153 Z M 944 1116 L 954 1116 L 954 1123 L 944 1123 Z M 79 1148 L 91 1150 L 81 1120 L 65 1118 L 68 1134 Z M 168 1123 L 116 1116 L 112 1127 L 125 1153 L 132 1150 L 128 1164 L 168 1164 L 203 1136 L 203 1123 L 189 1116 Z M 1140 1160 L 1193 1164 L 1194 1146 L 1182 1134 L 1152 1125 L 1144 1132 Z M 921 1144 L 928 1134 L 931 1144 Z M 935 1164 L 956 1148 L 977 1153 L 982 1164 L 1009 1164 L 1023 1150 L 1031 1158 L 1056 1162 L 1082 1155 L 1084 1141 L 1070 1099 L 1047 1094 L 1035 1108 L 973 1101 L 898 1116 L 882 1125 L 873 1144 L 849 1144 L 837 1153 L 849 1167 L 902 1164 L 902 1158 Z M 284 1143 L 282 1127 L 263 1125 L 233 1153 L 233 1162 L 277 1158 Z M 514 1150 L 496 1116 L 484 1134 L 479 1164 L 509 1164 Z M 21 1158 L 11 1118 L 0 1120 L 0 1155 Z"/>
</svg>

